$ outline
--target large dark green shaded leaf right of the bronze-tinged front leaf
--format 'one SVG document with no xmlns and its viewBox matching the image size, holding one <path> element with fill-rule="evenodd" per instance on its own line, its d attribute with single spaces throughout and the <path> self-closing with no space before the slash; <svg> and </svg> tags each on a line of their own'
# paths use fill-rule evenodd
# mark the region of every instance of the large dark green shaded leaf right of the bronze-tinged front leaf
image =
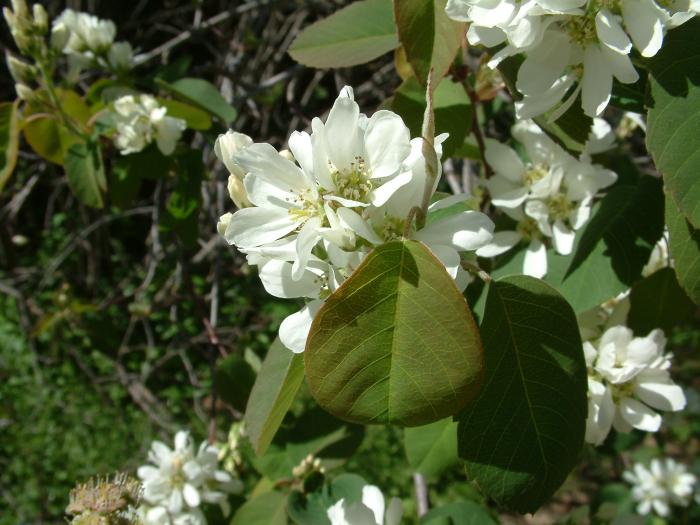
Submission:
<svg viewBox="0 0 700 525">
<path fill-rule="evenodd" d="M 489 286 L 481 326 L 484 387 L 459 415 L 467 474 L 500 505 L 534 512 L 578 461 L 587 413 L 576 316 L 544 282 Z"/>
</svg>

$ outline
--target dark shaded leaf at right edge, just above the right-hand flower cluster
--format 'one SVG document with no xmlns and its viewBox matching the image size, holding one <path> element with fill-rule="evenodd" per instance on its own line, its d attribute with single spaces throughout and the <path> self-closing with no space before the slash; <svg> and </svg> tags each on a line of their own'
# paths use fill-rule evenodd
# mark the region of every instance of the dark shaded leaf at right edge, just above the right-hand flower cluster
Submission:
<svg viewBox="0 0 700 525">
<path fill-rule="evenodd" d="M 695 307 L 678 284 L 672 268 L 662 268 L 638 282 L 630 294 L 627 326 L 639 336 L 654 328 L 670 333 L 671 329 L 689 321 Z"/>
</svg>

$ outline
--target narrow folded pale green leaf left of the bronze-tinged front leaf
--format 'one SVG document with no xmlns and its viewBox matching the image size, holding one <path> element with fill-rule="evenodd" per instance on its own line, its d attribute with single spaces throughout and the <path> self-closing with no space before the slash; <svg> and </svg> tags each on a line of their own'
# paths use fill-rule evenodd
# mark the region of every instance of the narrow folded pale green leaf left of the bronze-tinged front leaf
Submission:
<svg viewBox="0 0 700 525">
<path fill-rule="evenodd" d="M 243 418 L 258 455 L 264 454 L 272 442 L 303 380 L 302 356 L 276 339 L 265 356 Z"/>
</svg>

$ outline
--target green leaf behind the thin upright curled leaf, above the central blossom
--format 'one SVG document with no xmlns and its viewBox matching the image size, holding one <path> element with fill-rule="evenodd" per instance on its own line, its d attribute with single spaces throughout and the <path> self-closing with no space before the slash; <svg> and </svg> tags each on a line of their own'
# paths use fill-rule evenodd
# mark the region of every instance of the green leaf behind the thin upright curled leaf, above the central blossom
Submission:
<svg viewBox="0 0 700 525">
<path fill-rule="evenodd" d="M 425 113 L 425 88 L 415 77 L 404 81 L 396 90 L 391 109 L 401 115 L 411 130 L 412 137 L 421 136 Z M 471 130 L 472 107 L 464 88 L 458 82 L 445 78 L 433 93 L 435 133 L 449 133 L 443 143 L 443 158 L 451 157 Z"/>
</svg>

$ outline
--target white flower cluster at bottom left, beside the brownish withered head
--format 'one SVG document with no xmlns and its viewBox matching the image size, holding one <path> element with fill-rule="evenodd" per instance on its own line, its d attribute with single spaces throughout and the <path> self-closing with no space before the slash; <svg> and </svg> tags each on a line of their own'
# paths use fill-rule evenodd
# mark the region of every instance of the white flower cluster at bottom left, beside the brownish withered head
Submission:
<svg viewBox="0 0 700 525">
<path fill-rule="evenodd" d="M 203 442 L 195 450 L 189 433 L 175 435 L 175 448 L 160 441 L 151 444 L 148 460 L 152 465 L 138 469 L 143 480 L 143 504 L 140 507 L 146 525 L 203 525 L 206 519 L 202 503 L 221 506 L 230 512 L 229 493 L 240 492 L 239 480 L 218 470 L 216 447 Z"/>
</svg>

